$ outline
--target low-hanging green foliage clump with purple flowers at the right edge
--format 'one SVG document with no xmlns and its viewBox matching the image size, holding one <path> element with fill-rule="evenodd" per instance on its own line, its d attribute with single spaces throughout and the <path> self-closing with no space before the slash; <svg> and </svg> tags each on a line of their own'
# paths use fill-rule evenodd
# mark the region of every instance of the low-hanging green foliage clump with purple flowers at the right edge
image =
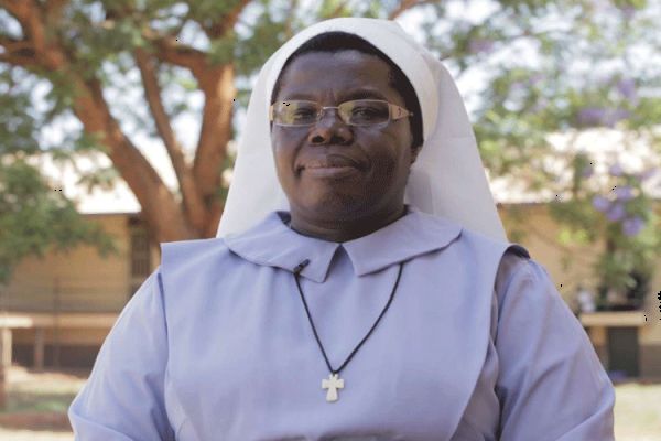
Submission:
<svg viewBox="0 0 661 441">
<path fill-rule="evenodd" d="M 602 308 L 609 306 L 608 291 L 641 291 L 640 283 L 650 280 L 653 262 L 661 256 L 661 217 L 644 190 L 653 172 L 630 173 L 614 164 L 608 179 L 590 187 L 587 183 L 595 183 L 592 165 L 587 155 L 581 154 L 573 163 L 573 197 L 550 206 L 551 214 L 564 225 L 562 241 L 602 249 L 594 266 L 603 293 Z"/>
</svg>

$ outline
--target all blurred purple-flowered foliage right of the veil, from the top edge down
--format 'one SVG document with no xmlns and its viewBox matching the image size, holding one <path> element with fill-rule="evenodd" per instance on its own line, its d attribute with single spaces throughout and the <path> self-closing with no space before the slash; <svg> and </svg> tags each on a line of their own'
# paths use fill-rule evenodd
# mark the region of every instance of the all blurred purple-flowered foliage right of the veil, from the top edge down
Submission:
<svg viewBox="0 0 661 441">
<path fill-rule="evenodd" d="M 560 245 L 593 245 L 603 290 L 626 292 L 636 277 L 649 277 L 661 255 L 654 201 L 635 171 L 607 179 L 593 173 L 597 158 L 568 135 L 615 129 L 661 152 L 661 67 L 651 63 L 661 46 L 651 31 L 661 10 L 646 1 L 491 4 L 483 18 L 453 15 L 453 2 L 436 6 L 424 23 L 429 45 L 457 76 L 486 77 L 467 98 L 491 175 L 514 175 L 531 192 L 556 193 L 549 211 L 561 225 Z M 567 135 L 562 153 L 549 143 L 550 133 Z M 564 168 L 549 166 L 557 161 Z M 627 201 L 617 200 L 616 186 L 630 189 L 631 195 L 619 193 Z M 599 212 L 598 196 L 617 208 Z"/>
</svg>

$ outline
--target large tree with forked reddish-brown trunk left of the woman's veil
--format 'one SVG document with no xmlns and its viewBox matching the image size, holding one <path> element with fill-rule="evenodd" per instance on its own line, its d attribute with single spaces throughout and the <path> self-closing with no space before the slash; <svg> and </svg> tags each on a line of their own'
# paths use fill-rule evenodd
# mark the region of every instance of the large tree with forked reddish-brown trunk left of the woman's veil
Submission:
<svg viewBox="0 0 661 441">
<path fill-rule="evenodd" d="M 397 15 L 415 3 L 395 3 L 391 13 Z M 259 17 L 243 36 L 237 25 L 249 6 Z M 8 30 L 0 36 L 0 62 L 4 68 L 19 69 L 17 75 L 30 74 L 51 83 L 48 111 L 53 117 L 73 112 L 83 132 L 105 149 L 140 202 L 154 239 L 213 236 L 223 211 L 220 172 L 234 135 L 237 75 L 250 75 L 301 25 L 286 17 L 296 2 L 6 0 L 0 7 L 2 29 Z M 346 14 L 353 11 L 348 8 L 342 2 L 324 2 L 318 14 Z M 188 33 L 194 34 L 193 40 L 204 40 L 204 47 L 186 42 Z M 132 68 L 140 73 L 150 114 L 149 120 L 138 118 L 139 123 L 153 130 L 167 150 L 177 192 L 166 187 L 105 95 L 107 88 L 122 88 L 113 69 L 126 73 Z M 171 122 L 177 106 L 163 98 L 163 89 L 169 87 L 164 77 L 170 75 L 185 75 L 188 87 L 204 96 L 192 161 Z"/>
</svg>

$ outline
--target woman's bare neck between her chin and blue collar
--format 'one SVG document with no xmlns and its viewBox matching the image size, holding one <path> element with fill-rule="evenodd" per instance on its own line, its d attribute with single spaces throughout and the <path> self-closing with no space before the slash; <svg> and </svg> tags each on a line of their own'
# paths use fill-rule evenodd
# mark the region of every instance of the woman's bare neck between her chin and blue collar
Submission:
<svg viewBox="0 0 661 441">
<path fill-rule="evenodd" d="M 407 207 L 402 204 L 397 209 L 387 213 L 372 213 L 353 219 L 308 219 L 292 209 L 290 227 L 304 236 L 317 239 L 344 243 L 367 236 L 407 214 Z"/>
</svg>

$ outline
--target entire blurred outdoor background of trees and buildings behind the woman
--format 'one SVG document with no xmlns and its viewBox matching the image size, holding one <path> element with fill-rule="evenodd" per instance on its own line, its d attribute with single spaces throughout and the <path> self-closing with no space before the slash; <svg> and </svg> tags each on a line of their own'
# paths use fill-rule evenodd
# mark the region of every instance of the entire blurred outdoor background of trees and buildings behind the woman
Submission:
<svg viewBox="0 0 661 441">
<path fill-rule="evenodd" d="M 162 241 L 214 237 L 251 85 L 295 32 L 397 20 L 465 98 L 512 241 L 661 440 L 661 2 L 0 0 L 0 440 L 66 408 Z"/>
</svg>

